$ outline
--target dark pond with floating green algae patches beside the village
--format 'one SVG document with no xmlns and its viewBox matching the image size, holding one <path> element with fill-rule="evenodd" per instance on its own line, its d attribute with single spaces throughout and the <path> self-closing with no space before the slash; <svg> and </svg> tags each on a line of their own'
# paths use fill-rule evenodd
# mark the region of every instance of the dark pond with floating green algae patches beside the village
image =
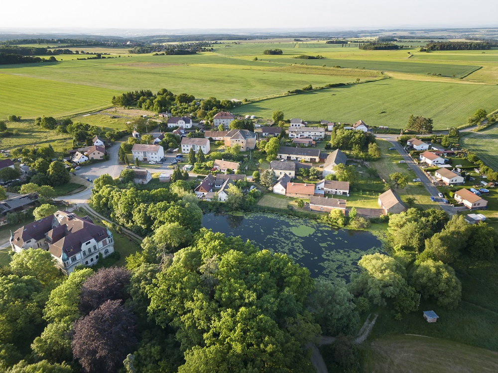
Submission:
<svg viewBox="0 0 498 373">
<path fill-rule="evenodd" d="M 314 278 L 349 281 L 365 254 L 383 252 L 371 232 L 334 229 L 312 219 L 273 213 L 205 214 L 202 225 L 214 232 L 251 240 L 260 249 L 287 254 Z"/>
</svg>

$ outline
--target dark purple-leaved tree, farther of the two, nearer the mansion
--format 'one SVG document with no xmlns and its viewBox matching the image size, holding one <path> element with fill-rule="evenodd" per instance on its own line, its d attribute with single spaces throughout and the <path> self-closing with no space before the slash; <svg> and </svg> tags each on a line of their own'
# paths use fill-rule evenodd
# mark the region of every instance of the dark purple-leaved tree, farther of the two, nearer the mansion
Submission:
<svg viewBox="0 0 498 373">
<path fill-rule="evenodd" d="M 106 300 L 126 300 L 130 273 L 122 267 L 101 268 L 81 286 L 80 310 L 87 313 Z"/>
</svg>

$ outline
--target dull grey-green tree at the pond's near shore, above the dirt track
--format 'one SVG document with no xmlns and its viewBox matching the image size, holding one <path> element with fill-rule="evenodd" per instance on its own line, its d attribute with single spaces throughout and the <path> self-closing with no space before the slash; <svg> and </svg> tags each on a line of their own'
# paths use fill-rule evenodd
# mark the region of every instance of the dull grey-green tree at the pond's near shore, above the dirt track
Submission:
<svg viewBox="0 0 498 373">
<path fill-rule="evenodd" d="M 315 281 L 309 308 L 325 335 L 352 334 L 356 331 L 360 317 L 355 311 L 353 299 L 353 294 L 342 281 L 334 284 L 326 280 Z"/>
</svg>

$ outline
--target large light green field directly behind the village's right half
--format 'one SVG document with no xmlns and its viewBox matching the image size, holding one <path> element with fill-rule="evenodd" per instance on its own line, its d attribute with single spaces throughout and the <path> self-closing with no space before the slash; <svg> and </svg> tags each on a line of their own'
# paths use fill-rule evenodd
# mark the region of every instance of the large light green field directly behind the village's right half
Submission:
<svg viewBox="0 0 498 373">
<path fill-rule="evenodd" d="M 493 111 L 498 89 L 488 85 L 386 79 L 322 91 L 277 97 L 242 105 L 237 113 L 271 117 L 275 109 L 285 118 L 327 119 L 405 128 L 410 114 L 431 117 L 434 128 L 461 126 L 476 108 Z M 384 112 L 382 112 L 384 111 Z"/>
</svg>

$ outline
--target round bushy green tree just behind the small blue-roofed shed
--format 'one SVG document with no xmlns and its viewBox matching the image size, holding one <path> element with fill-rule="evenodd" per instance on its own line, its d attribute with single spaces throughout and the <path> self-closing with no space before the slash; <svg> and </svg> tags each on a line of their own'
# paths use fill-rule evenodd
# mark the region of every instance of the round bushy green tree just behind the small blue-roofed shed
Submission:
<svg viewBox="0 0 498 373">
<path fill-rule="evenodd" d="M 433 297 L 441 307 L 453 309 L 462 298 L 462 285 L 455 271 L 440 261 L 421 263 L 413 273 L 413 284 L 425 298 Z"/>
</svg>

